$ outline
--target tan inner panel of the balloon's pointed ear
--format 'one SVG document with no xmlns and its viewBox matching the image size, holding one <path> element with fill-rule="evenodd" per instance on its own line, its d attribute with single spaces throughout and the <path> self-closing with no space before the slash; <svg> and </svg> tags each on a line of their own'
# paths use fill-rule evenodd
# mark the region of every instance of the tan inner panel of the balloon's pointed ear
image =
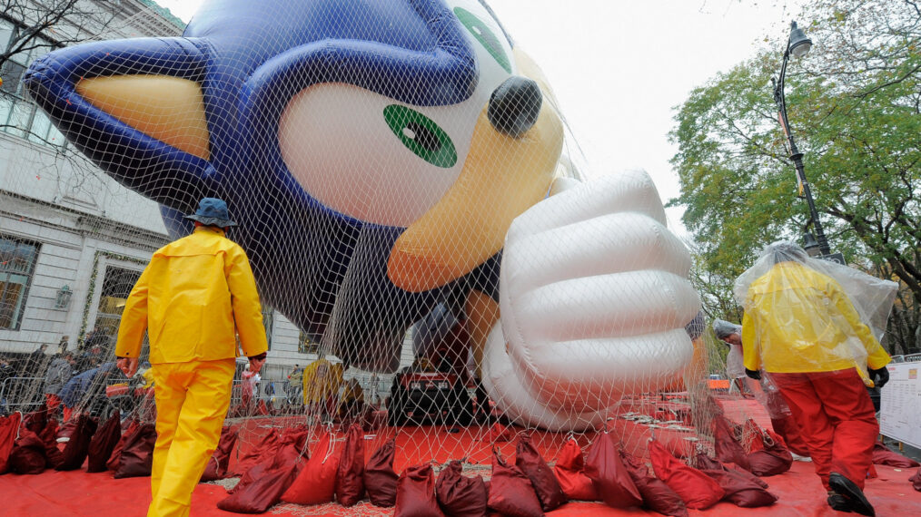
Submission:
<svg viewBox="0 0 921 517">
<path fill-rule="evenodd" d="M 82 79 L 76 92 L 147 136 L 207 160 L 208 124 L 202 88 L 169 75 L 113 75 Z"/>
</svg>

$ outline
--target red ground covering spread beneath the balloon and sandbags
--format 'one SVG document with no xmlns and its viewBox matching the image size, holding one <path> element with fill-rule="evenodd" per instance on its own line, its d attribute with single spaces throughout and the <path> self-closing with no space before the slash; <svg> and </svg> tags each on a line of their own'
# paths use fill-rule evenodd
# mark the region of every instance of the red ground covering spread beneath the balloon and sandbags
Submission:
<svg viewBox="0 0 921 517">
<path fill-rule="evenodd" d="M 748 401 L 740 401 L 747 403 Z M 737 403 L 738 404 L 738 403 Z M 732 404 L 729 404 L 731 407 Z M 668 404 L 658 403 L 656 409 L 661 411 Z M 727 408 L 724 406 L 724 408 Z M 739 418 L 732 418 L 734 411 L 727 411 L 732 419 L 741 420 L 752 417 L 756 420 L 766 419 L 760 415 L 764 411 L 758 405 L 740 409 Z M 744 409 L 744 410 L 741 410 Z M 646 411 L 644 411 L 647 413 Z M 647 413 L 651 414 L 651 413 Z M 764 417 L 764 418 L 762 418 Z M 663 417 L 665 419 L 667 417 Z M 302 419 L 247 419 L 238 422 L 240 436 L 244 445 L 240 454 L 245 453 L 252 444 L 258 442 L 270 427 L 288 427 L 296 425 Z M 769 424 L 770 420 L 766 420 Z M 228 422 L 231 423 L 231 422 Z M 623 419 L 612 420 L 612 433 L 621 438 L 621 445 L 628 451 L 643 455 L 646 442 L 650 436 L 671 449 L 673 453 L 682 454 L 682 450 L 693 447 L 694 442 L 688 438 L 693 433 L 680 429 L 647 428 L 641 424 Z M 516 429 L 509 430 L 507 442 L 497 442 L 495 446 L 506 457 L 515 453 Z M 465 428 L 451 433 L 442 426 L 403 427 L 399 431 L 383 427 L 373 436 L 367 436 L 366 458 L 391 438 L 397 439 L 397 457 L 394 467 L 397 472 L 409 465 L 418 465 L 427 461 L 444 464 L 449 460 L 467 455 L 468 464 L 479 465 L 473 470 L 488 475 L 490 454 L 494 443 L 492 430 L 488 427 Z M 370 433 L 369 433 L 370 434 Z M 337 436 L 342 439 L 342 435 Z M 555 458 L 563 442 L 568 438 L 565 433 L 535 432 L 532 442 L 548 460 Z M 316 436 L 312 438 L 316 440 Z M 591 437 L 581 436 L 580 444 L 587 445 Z M 312 447 L 312 445 L 311 445 Z M 312 449 L 311 449 L 312 451 Z M 231 471 L 235 460 L 231 460 Z M 908 478 L 916 469 L 896 469 L 876 465 L 878 478 L 867 481 L 866 494 L 875 506 L 877 515 L 904 516 L 921 515 L 921 492 L 912 488 Z M 843 515 L 832 511 L 825 503 L 826 494 L 815 476 L 811 463 L 794 462 L 793 468 L 780 476 L 765 477 L 770 484 L 768 488 L 780 500 L 766 508 L 744 509 L 730 503 L 722 502 L 706 511 L 690 511 L 691 515 L 737 516 L 737 515 L 771 515 L 818 517 Z M 218 485 L 201 484 L 195 489 L 192 498 L 192 516 L 228 516 L 216 507 L 219 500 L 227 497 L 225 488 Z M 73 472 L 46 471 L 38 476 L 17 476 L 7 474 L 0 476 L 0 515 L 6 516 L 69 516 L 87 515 L 91 517 L 134 517 L 146 514 L 150 502 L 150 478 L 133 477 L 114 479 L 111 472 L 87 474 L 85 470 Z M 345 509 L 335 504 L 304 507 L 291 504 L 279 505 L 270 510 L 271 514 L 281 515 L 391 515 L 392 510 L 379 509 L 367 501 L 359 503 L 352 509 Z M 630 511 L 614 510 L 601 503 L 570 502 L 562 508 L 551 512 L 557 516 L 616 516 L 616 515 L 658 515 L 639 509 Z"/>
</svg>

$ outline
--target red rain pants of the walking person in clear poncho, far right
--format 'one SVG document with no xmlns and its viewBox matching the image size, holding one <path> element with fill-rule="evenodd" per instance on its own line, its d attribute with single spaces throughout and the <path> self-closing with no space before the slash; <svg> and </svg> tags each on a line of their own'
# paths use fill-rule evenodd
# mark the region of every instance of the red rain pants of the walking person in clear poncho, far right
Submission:
<svg viewBox="0 0 921 517">
<path fill-rule="evenodd" d="M 880 424 L 857 370 L 772 372 L 771 378 L 799 424 L 822 485 L 829 489 L 828 475 L 837 472 L 863 489 Z"/>
</svg>

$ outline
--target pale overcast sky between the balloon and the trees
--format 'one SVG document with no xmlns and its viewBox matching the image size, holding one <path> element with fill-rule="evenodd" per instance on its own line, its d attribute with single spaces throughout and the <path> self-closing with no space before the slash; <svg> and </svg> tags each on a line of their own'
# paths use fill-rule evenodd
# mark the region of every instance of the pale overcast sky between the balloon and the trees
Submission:
<svg viewBox="0 0 921 517">
<path fill-rule="evenodd" d="M 597 177 L 645 168 L 662 201 L 679 194 L 669 160 L 674 109 L 695 86 L 800 25 L 804 0 L 490 0 L 512 38 L 541 65 Z M 158 0 L 188 21 L 200 0 Z M 817 47 L 821 42 L 816 42 Z M 777 49 L 781 52 L 781 49 Z M 769 86 L 764 95 L 770 96 Z M 582 160 L 577 158 L 577 163 Z M 685 232 L 680 209 L 669 225 Z"/>
</svg>

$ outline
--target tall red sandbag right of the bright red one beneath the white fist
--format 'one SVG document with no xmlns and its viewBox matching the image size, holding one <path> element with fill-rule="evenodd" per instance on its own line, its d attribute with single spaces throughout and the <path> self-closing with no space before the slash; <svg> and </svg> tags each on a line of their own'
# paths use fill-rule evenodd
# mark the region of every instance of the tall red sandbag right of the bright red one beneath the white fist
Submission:
<svg viewBox="0 0 921 517">
<path fill-rule="evenodd" d="M 621 461 L 614 437 L 602 432 L 595 437 L 585 459 L 585 475 L 591 478 L 605 504 L 629 508 L 643 503 L 643 496 Z"/>
</svg>

